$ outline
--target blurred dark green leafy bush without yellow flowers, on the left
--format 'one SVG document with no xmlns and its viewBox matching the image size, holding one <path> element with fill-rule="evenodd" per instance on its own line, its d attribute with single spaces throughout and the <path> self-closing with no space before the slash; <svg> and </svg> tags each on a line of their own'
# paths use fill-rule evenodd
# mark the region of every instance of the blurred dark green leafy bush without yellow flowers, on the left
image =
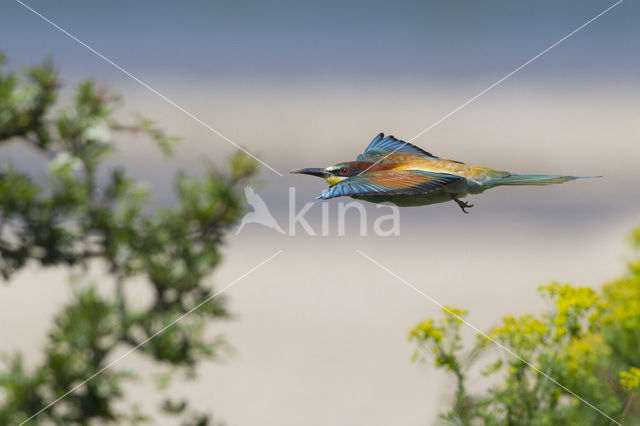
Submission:
<svg viewBox="0 0 640 426">
<path fill-rule="evenodd" d="M 60 85 L 50 61 L 24 73 L 7 72 L 2 62 L 0 148 L 26 144 L 46 166 L 34 172 L 0 164 L 0 273 L 9 281 L 35 264 L 67 267 L 79 276 L 103 268 L 108 275 L 100 285 L 74 286 L 39 365 L 27 367 L 20 354 L 7 358 L 0 371 L 0 424 L 26 420 L 141 344 L 139 351 L 166 370 L 159 374 L 160 390 L 174 373 L 193 374 L 200 360 L 225 345 L 204 333 L 211 319 L 228 316 L 225 300 L 210 300 L 156 334 L 213 294 L 204 281 L 220 262 L 225 231 L 243 213 L 240 188 L 254 174 L 254 161 L 238 153 L 225 170 L 179 174 L 175 204 L 157 207 L 143 183 L 104 162 L 123 132 L 155 140 L 166 154 L 175 138 L 143 117 L 134 125 L 115 121 L 118 97 L 92 81 L 77 87 L 72 105 L 56 107 Z M 141 278 L 152 294 L 145 303 L 127 296 L 132 280 L 140 285 Z M 117 365 L 108 368 L 32 423 L 143 422 L 147 417 L 136 409 L 116 409 L 123 382 L 134 378 Z M 210 423 L 186 403 L 168 401 L 162 408 L 184 415 L 185 424 Z"/>
</svg>

